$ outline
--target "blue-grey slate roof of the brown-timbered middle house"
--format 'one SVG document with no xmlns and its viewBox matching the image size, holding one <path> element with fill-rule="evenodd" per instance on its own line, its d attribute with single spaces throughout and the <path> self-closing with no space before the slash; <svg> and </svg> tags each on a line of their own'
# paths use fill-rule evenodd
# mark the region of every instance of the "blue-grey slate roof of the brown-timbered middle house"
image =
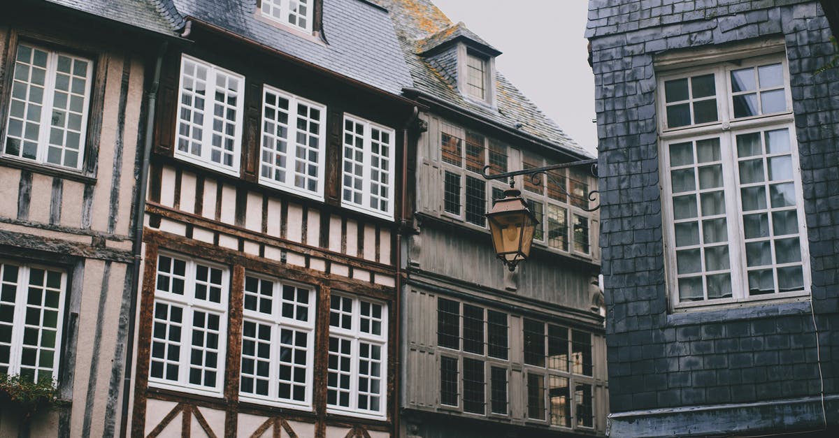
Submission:
<svg viewBox="0 0 839 438">
<path fill-rule="evenodd" d="M 383 91 L 401 95 L 402 88 L 411 84 L 387 11 L 363 0 L 323 0 L 328 44 L 258 20 L 256 0 L 156 1 L 174 3 L 181 17 L 214 24 Z"/>
</svg>

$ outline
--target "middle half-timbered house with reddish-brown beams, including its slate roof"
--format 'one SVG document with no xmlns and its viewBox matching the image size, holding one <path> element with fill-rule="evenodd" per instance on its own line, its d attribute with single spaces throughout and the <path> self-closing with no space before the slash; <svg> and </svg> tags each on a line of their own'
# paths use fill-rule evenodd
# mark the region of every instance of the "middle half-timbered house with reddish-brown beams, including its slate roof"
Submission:
<svg viewBox="0 0 839 438">
<path fill-rule="evenodd" d="M 363 0 L 175 0 L 133 436 L 388 436 L 414 103 Z"/>
</svg>

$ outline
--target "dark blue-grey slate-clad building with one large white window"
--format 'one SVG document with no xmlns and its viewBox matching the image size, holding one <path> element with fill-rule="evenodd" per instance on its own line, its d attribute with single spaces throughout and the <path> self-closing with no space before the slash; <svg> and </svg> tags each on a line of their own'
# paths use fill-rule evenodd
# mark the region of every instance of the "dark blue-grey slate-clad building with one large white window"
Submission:
<svg viewBox="0 0 839 438">
<path fill-rule="evenodd" d="M 814 1 L 589 3 L 611 435 L 836 430 L 830 36 Z"/>
</svg>

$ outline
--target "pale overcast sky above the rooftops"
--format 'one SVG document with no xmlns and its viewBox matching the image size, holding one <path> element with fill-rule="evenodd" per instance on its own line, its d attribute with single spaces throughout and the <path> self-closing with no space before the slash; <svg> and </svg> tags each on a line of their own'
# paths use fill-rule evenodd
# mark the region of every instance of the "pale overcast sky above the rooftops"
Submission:
<svg viewBox="0 0 839 438">
<path fill-rule="evenodd" d="M 594 76 L 588 66 L 588 0 L 431 0 L 504 52 L 496 67 L 592 153 Z"/>
</svg>

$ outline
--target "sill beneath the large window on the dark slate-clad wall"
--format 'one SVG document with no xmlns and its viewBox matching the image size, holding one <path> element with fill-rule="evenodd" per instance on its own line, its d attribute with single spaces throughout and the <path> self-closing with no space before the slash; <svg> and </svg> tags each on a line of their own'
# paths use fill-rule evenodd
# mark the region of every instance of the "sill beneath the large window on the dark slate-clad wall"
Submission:
<svg viewBox="0 0 839 438">
<path fill-rule="evenodd" d="M 810 313 L 810 295 L 770 302 L 740 302 L 736 307 L 693 311 L 676 311 L 667 315 L 666 326 L 687 326 L 706 322 L 756 320 L 781 315 Z"/>
</svg>

